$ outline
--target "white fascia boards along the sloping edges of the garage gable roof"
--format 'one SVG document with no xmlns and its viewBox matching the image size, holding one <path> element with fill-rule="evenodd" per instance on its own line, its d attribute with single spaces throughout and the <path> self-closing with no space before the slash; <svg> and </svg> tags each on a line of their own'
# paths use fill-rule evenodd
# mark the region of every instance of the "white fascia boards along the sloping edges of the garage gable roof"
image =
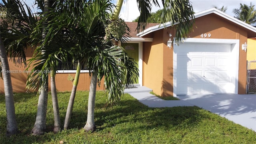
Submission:
<svg viewBox="0 0 256 144">
<path fill-rule="evenodd" d="M 222 18 L 225 18 L 226 20 L 234 22 L 235 24 L 238 24 L 238 25 L 246 28 L 247 30 L 256 33 L 256 28 L 254 26 L 251 26 L 250 24 L 246 24 L 245 22 L 242 22 L 241 20 L 238 20 L 237 18 L 234 18 L 234 17 L 232 17 L 232 16 L 230 16 L 230 15 L 228 15 L 228 14 L 226 14 L 226 13 L 224 13 L 224 12 L 222 12 L 222 11 L 216 9 L 216 8 L 211 8 L 211 9 L 208 9 L 208 10 L 204 10 L 202 12 L 197 12 L 197 13 L 194 14 L 194 16 L 195 16 L 195 18 L 199 18 L 201 16 L 206 16 L 208 14 L 217 14 L 218 16 L 221 16 Z M 152 27 L 147 28 L 146 30 L 138 33 L 137 36 L 142 37 L 142 36 L 145 36 L 146 34 L 149 34 L 151 32 L 154 32 L 154 31 L 157 31 L 157 30 L 169 27 L 169 26 L 171 26 L 170 22 L 165 23 L 165 26 L 164 26 L 164 24 L 160 24 L 160 25 L 157 25 L 157 26 L 152 26 Z"/>
</svg>

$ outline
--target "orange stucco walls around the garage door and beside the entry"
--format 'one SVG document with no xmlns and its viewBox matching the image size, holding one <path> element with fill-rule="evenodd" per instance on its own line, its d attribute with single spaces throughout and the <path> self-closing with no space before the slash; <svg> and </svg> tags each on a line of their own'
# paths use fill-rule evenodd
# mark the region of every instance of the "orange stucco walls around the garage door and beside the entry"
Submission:
<svg viewBox="0 0 256 144">
<path fill-rule="evenodd" d="M 144 42 L 143 48 L 143 85 L 153 89 L 153 92 L 160 96 L 172 96 L 172 66 L 173 66 L 173 49 L 169 49 L 166 46 L 167 40 L 169 39 L 168 32 L 175 35 L 175 30 L 172 28 L 166 28 L 163 30 L 158 30 L 152 32 L 150 35 L 145 37 L 152 37 L 153 42 Z M 239 76 L 238 76 L 238 94 L 246 93 L 246 52 L 241 48 L 241 44 L 247 42 L 247 31 L 246 29 L 234 24 L 216 14 L 209 14 L 207 16 L 202 16 L 196 18 L 195 24 L 193 26 L 193 32 L 191 32 L 187 37 L 189 38 L 202 38 L 201 34 L 211 34 L 210 38 L 216 39 L 239 39 Z M 172 37 L 173 40 L 173 37 Z M 162 44 L 161 44 L 162 42 Z M 156 45 L 157 44 L 157 45 Z M 160 47 L 162 46 L 162 47 Z M 156 47 L 158 51 L 156 51 Z M 156 54 L 155 54 L 156 53 Z M 159 56 L 162 53 L 162 57 Z M 157 56 L 156 56 L 157 55 Z M 162 62 L 153 63 L 153 61 L 162 58 Z M 152 63 L 148 63 L 148 61 Z M 151 60 L 153 59 L 153 60 Z M 161 66 L 160 66 L 161 65 Z M 157 70 L 157 72 L 156 72 Z M 156 73 L 155 73 L 156 72 Z M 160 74 L 161 73 L 161 74 Z M 158 78 L 162 81 L 154 82 L 152 76 L 158 74 Z"/>
</svg>

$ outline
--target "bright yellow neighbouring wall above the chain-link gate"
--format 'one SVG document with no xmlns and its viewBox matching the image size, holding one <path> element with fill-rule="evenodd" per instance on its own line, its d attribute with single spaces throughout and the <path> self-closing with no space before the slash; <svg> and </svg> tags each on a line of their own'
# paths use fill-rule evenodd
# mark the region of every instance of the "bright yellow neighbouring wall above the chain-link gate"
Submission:
<svg viewBox="0 0 256 144">
<path fill-rule="evenodd" d="M 247 44 L 247 60 L 256 60 L 256 38 L 248 38 Z"/>
</svg>

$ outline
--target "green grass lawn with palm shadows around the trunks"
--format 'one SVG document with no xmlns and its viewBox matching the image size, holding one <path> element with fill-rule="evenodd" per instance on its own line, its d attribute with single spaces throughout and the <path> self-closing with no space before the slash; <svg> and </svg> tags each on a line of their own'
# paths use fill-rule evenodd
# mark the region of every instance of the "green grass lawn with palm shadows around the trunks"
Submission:
<svg viewBox="0 0 256 144">
<path fill-rule="evenodd" d="M 60 117 L 64 121 L 70 92 L 59 92 Z M 53 134 L 51 96 L 48 99 L 47 133 L 30 135 L 36 120 L 38 96 L 15 94 L 18 128 L 21 134 L 6 137 L 4 95 L 0 96 L 0 144 L 255 144 L 256 132 L 193 107 L 148 108 L 125 94 L 122 100 L 105 107 L 106 95 L 97 92 L 96 132 L 82 130 L 86 123 L 88 92 L 77 92 L 69 130 Z"/>
</svg>

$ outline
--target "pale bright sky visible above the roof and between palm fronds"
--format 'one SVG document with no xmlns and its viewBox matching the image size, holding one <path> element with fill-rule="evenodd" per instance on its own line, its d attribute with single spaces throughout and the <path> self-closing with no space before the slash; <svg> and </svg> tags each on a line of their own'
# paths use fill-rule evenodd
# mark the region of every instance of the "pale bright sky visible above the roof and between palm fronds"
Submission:
<svg viewBox="0 0 256 144">
<path fill-rule="evenodd" d="M 26 2 L 28 6 L 32 6 L 32 4 L 34 4 L 34 0 L 23 1 Z M 116 1 L 117 0 L 113 0 L 112 3 L 116 4 Z M 226 13 L 230 16 L 234 16 L 232 10 L 234 8 L 239 8 L 240 3 L 250 6 L 250 2 L 252 3 L 252 5 L 255 5 L 254 8 L 256 8 L 256 0 L 190 0 L 194 12 L 207 10 L 213 8 L 214 6 L 217 6 L 218 8 L 221 8 L 222 6 L 227 6 L 228 9 Z M 162 4 L 161 0 L 158 0 L 158 3 Z M 153 6 L 152 12 L 155 12 L 161 8 Z M 132 20 L 135 20 L 139 15 L 140 12 L 138 10 L 136 0 L 124 0 L 119 17 L 124 19 L 124 21 L 126 22 L 132 22 Z"/>
</svg>

